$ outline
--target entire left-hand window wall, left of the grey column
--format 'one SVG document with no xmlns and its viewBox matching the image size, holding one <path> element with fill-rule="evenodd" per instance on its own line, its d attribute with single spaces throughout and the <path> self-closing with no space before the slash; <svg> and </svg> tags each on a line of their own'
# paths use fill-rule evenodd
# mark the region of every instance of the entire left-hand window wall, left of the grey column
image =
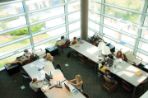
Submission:
<svg viewBox="0 0 148 98">
<path fill-rule="evenodd" d="M 0 68 L 24 49 L 80 36 L 79 0 L 15 0 L 0 3 Z"/>
</svg>

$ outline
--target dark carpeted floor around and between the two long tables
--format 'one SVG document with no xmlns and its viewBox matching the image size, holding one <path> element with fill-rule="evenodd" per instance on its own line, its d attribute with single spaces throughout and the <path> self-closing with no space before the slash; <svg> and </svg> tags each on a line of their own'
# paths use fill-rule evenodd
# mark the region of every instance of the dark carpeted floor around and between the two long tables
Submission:
<svg viewBox="0 0 148 98">
<path fill-rule="evenodd" d="M 108 92 L 102 87 L 102 79 L 98 76 L 95 67 L 96 64 L 82 62 L 75 56 L 67 57 L 70 49 L 65 50 L 54 57 L 54 65 L 60 64 L 64 76 L 69 80 L 74 75 L 80 74 L 84 80 L 84 92 L 90 98 L 131 98 L 131 93 L 126 92 L 119 84 L 115 92 Z M 22 77 L 18 72 L 12 76 L 7 72 L 0 72 L 0 98 L 44 98 L 43 94 L 34 93 L 29 87 L 28 79 Z M 21 89 L 24 86 L 24 89 Z M 136 95 L 137 96 L 137 95 Z M 137 96 L 138 98 L 138 96 Z"/>
</svg>

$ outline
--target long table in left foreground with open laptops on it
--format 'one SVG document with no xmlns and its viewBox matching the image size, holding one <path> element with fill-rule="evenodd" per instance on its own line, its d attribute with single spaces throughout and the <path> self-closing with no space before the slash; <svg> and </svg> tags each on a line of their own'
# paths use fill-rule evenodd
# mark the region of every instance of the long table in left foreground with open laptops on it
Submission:
<svg viewBox="0 0 148 98">
<path fill-rule="evenodd" d="M 85 98 L 81 92 L 68 83 L 63 73 L 60 70 L 56 70 L 50 61 L 39 59 L 23 66 L 23 68 L 32 79 L 37 78 L 38 80 L 44 80 L 45 73 L 52 74 L 53 79 L 50 80 L 51 85 L 45 83 L 45 81 L 39 84 L 41 91 L 47 96 L 47 98 Z M 61 83 L 62 88 L 54 87 L 59 82 Z M 67 88 L 65 88 L 64 83 L 73 87 L 73 89 L 77 90 L 77 92 L 73 93 L 68 91 Z"/>
</svg>

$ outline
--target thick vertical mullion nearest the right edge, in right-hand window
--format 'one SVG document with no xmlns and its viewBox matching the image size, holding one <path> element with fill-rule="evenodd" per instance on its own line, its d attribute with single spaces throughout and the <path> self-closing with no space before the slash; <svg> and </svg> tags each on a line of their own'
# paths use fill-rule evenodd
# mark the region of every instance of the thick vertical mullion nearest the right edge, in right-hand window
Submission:
<svg viewBox="0 0 148 98">
<path fill-rule="evenodd" d="M 146 13 L 147 12 L 147 9 L 148 9 L 148 0 L 145 0 L 144 5 L 143 5 L 142 12 L 143 13 Z M 139 18 L 140 27 L 142 27 L 144 25 L 145 18 L 146 18 L 146 15 L 145 14 L 142 14 L 141 17 Z M 135 46 L 134 46 L 134 53 L 135 54 L 138 51 L 139 42 L 140 42 L 140 39 L 141 39 L 141 36 L 142 36 L 142 29 L 141 28 L 138 28 L 138 32 L 137 33 L 138 34 L 137 34 L 137 38 L 136 38 Z"/>
</svg>

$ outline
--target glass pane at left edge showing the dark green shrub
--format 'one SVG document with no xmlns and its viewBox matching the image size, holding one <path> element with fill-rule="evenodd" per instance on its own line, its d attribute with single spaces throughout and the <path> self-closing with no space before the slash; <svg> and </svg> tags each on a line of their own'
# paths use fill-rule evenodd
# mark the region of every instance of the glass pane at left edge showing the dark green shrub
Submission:
<svg viewBox="0 0 148 98">
<path fill-rule="evenodd" d="M 1 39 L 0 44 L 17 40 L 18 38 L 27 36 L 28 34 L 29 33 L 27 28 L 21 28 L 15 31 L 7 32 L 5 34 L 0 34 L 0 39 Z"/>
</svg>

